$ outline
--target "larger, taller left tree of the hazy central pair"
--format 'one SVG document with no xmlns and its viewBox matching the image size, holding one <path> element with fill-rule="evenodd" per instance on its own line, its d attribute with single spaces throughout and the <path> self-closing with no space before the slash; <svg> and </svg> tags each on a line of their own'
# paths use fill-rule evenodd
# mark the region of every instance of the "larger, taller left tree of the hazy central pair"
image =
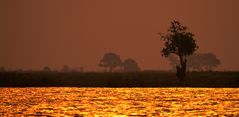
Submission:
<svg viewBox="0 0 239 117">
<path fill-rule="evenodd" d="M 100 67 L 108 68 L 109 72 L 113 72 L 116 67 L 121 67 L 121 65 L 121 58 L 115 53 L 106 53 L 99 63 Z"/>
</svg>

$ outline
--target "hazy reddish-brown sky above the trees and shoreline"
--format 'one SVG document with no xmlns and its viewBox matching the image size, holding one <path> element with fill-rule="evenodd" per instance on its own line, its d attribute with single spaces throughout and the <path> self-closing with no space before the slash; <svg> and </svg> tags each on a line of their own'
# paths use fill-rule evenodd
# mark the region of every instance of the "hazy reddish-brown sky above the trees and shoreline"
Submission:
<svg viewBox="0 0 239 117">
<path fill-rule="evenodd" d="M 0 66 L 100 70 L 115 52 L 142 69 L 169 69 L 157 33 L 179 20 L 219 70 L 239 70 L 238 12 L 239 0 L 1 0 Z"/>
</svg>

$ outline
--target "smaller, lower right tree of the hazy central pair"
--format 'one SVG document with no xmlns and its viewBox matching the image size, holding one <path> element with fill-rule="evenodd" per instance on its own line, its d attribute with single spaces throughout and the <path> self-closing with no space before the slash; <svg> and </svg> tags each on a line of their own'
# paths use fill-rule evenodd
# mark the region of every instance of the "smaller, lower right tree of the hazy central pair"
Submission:
<svg viewBox="0 0 239 117">
<path fill-rule="evenodd" d="M 129 58 L 123 62 L 123 70 L 125 72 L 137 72 L 140 68 L 134 59 Z"/>
</svg>

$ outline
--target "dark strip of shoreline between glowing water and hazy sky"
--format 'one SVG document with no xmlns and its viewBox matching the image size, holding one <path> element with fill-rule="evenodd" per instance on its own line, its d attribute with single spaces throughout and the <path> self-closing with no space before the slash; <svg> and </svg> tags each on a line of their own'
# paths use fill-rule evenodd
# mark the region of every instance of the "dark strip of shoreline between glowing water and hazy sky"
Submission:
<svg viewBox="0 0 239 117">
<path fill-rule="evenodd" d="M 173 72 L 0 72 L 0 87 L 239 88 L 239 72 L 189 72 L 180 82 Z"/>
</svg>

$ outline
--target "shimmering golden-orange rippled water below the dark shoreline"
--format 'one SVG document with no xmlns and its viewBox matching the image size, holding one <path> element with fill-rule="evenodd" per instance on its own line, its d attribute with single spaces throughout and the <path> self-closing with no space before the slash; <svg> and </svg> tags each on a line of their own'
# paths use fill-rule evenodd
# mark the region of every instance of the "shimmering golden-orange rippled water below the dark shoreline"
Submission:
<svg viewBox="0 0 239 117">
<path fill-rule="evenodd" d="M 0 116 L 239 116 L 237 88 L 0 88 Z"/>
</svg>

